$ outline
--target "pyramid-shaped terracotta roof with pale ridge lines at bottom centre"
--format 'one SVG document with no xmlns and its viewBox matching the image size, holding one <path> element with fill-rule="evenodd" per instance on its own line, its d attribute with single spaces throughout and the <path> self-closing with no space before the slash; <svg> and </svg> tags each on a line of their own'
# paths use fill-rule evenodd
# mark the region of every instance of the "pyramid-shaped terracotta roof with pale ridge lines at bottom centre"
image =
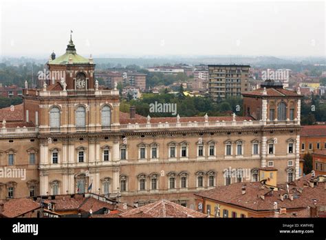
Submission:
<svg viewBox="0 0 326 240">
<path fill-rule="evenodd" d="M 146 217 L 146 218 L 162 218 L 162 217 L 207 217 L 206 214 L 202 212 L 197 212 L 191 210 L 190 208 L 185 208 L 177 203 L 167 201 L 162 199 L 160 201 L 155 201 L 154 203 L 149 203 L 140 208 L 135 208 L 123 212 L 120 217 Z"/>
</svg>

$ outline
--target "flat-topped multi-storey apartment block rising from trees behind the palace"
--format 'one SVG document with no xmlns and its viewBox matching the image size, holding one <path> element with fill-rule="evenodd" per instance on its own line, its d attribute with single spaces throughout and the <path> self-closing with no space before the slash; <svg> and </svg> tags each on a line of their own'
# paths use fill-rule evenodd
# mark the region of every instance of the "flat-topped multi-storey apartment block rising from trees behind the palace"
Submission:
<svg viewBox="0 0 326 240">
<path fill-rule="evenodd" d="M 213 99 L 241 97 L 249 90 L 247 65 L 208 65 L 208 92 Z"/>
</svg>

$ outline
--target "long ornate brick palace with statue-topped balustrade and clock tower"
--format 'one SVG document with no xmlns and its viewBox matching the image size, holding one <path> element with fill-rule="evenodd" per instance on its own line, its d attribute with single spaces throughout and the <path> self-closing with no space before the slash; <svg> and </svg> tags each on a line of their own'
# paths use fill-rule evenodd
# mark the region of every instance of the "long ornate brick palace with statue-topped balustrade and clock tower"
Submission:
<svg viewBox="0 0 326 240">
<path fill-rule="evenodd" d="M 47 68 L 41 88 L 26 82 L 23 103 L 0 110 L 2 173 L 25 170 L 0 178 L 1 199 L 92 192 L 194 208 L 194 193 L 258 181 L 259 168 L 276 168 L 282 183 L 299 177 L 300 92 L 244 92 L 243 117 L 151 118 L 120 112 L 119 91 L 98 86 L 72 39 Z"/>
</svg>

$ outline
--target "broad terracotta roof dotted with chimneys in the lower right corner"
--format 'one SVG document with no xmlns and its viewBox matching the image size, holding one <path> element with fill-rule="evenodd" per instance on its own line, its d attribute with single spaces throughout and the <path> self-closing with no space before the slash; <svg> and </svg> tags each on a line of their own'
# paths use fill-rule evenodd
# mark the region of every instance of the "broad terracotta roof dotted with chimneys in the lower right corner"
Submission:
<svg viewBox="0 0 326 240">
<path fill-rule="evenodd" d="M 250 210 L 274 210 L 274 202 L 279 207 L 285 208 L 306 208 L 309 205 L 326 205 L 325 183 L 318 182 L 317 186 L 311 188 L 307 181 L 311 179 L 311 174 L 301 177 L 292 183 L 288 183 L 289 193 L 294 199 L 284 199 L 281 201 L 280 194 L 286 194 L 286 183 L 279 184 L 277 190 L 271 190 L 267 186 L 262 188 L 263 183 L 233 183 L 229 186 L 220 186 L 213 190 L 199 192 L 195 194 L 199 197 L 213 199 L 223 203 L 248 208 Z M 246 184 L 246 193 L 242 194 L 241 188 Z M 264 196 L 264 199 L 261 198 Z"/>
</svg>

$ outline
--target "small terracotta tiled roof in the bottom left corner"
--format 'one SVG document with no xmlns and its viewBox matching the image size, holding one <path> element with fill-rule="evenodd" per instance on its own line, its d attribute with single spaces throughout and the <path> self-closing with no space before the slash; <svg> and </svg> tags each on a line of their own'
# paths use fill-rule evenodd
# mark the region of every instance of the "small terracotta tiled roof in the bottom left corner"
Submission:
<svg viewBox="0 0 326 240">
<path fill-rule="evenodd" d="M 0 214 L 4 217 L 19 217 L 38 208 L 41 208 L 40 203 L 31 199 L 10 199 L 3 203 L 3 212 Z"/>
</svg>

